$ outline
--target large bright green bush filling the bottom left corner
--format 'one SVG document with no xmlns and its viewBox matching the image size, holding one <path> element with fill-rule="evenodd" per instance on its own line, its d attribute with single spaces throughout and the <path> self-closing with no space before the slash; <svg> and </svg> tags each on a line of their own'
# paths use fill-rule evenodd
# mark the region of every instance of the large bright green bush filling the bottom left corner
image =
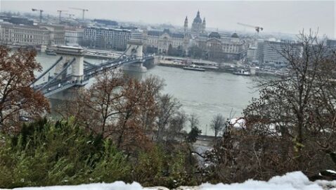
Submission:
<svg viewBox="0 0 336 190">
<path fill-rule="evenodd" d="M 128 179 L 124 154 L 108 139 L 87 134 L 72 119 L 39 120 L 4 136 L 0 149 L 0 188 L 49 186 Z"/>
</svg>

